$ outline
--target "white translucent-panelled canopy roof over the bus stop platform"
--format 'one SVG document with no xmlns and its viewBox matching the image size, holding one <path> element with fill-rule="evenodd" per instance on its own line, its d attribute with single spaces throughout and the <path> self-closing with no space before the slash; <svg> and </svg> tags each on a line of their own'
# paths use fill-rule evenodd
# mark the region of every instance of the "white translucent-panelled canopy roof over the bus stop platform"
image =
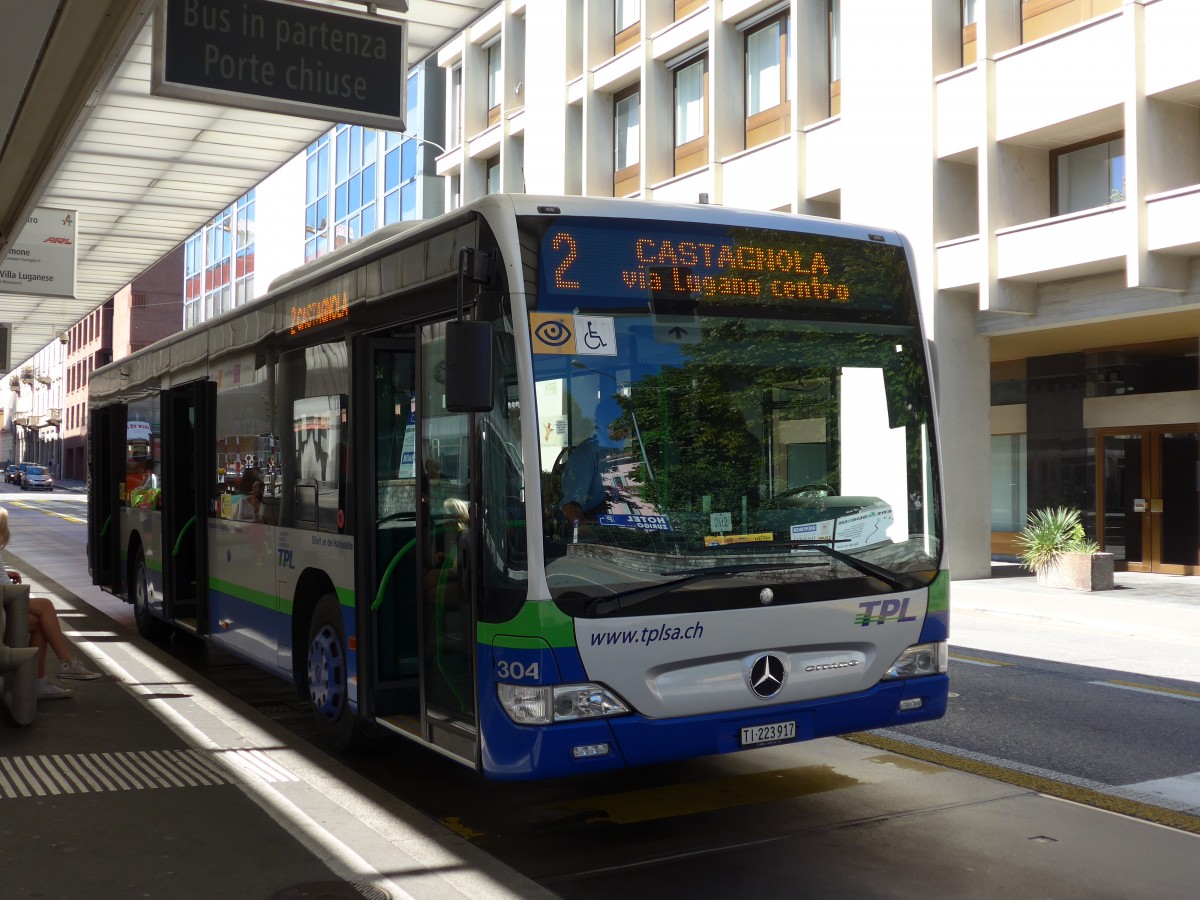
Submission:
<svg viewBox="0 0 1200 900">
<path fill-rule="evenodd" d="M 353 12 L 366 7 L 307 1 Z M 494 2 L 374 5 L 379 14 L 408 22 L 412 65 Z M 151 96 L 151 32 L 158 5 L 0 0 L 0 23 L 8 32 L 0 54 L 0 260 L 35 208 L 78 214 L 76 296 L 0 293 L 0 324 L 12 329 L 10 368 L 334 124 Z"/>
</svg>

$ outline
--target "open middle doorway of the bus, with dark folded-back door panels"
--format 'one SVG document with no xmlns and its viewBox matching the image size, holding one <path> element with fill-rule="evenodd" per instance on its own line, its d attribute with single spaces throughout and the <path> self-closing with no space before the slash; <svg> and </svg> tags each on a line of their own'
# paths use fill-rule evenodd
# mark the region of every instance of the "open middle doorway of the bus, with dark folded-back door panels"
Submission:
<svg viewBox="0 0 1200 900">
<path fill-rule="evenodd" d="M 167 618 L 209 632 L 208 512 L 211 502 L 204 448 L 211 446 L 216 385 L 192 382 L 163 391 L 162 551 Z"/>
</svg>

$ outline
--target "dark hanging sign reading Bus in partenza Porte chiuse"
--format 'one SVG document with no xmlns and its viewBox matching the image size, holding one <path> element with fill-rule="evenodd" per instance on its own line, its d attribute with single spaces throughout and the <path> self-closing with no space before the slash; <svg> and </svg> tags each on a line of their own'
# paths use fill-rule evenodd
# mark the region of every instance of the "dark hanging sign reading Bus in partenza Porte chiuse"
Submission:
<svg viewBox="0 0 1200 900">
<path fill-rule="evenodd" d="M 283 0 L 162 0 L 152 92 L 404 130 L 403 22 Z"/>
</svg>

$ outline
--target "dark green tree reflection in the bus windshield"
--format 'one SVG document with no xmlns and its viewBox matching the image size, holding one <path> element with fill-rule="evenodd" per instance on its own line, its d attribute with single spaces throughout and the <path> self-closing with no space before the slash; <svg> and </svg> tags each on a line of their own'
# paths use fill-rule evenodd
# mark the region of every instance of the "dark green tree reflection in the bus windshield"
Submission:
<svg viewBox="0 0 1200 900">
<path fill-rule="evenodd" d="M 680 366 L 643 376 L 622 398 L 650 461 L 650 470 L 641 463 L 634 478 L 646 500 L 668 515 L 740 510 L 743 502 L 752 509 L 768 499 L 763 490 L 793 486 L 773 481 L 768 458 L 774 424 L 784 420 L 823 424 L 829 454 L 821 480 L 836 486 L 844 368 L 884 370 L 890 427 L 928 421 L 925 368 L 907 337 L 707 318 L 703 341 L 680 350 Z M 920 442 L 907 444 L 911 464 L 919 466 Z"/>
</svg>

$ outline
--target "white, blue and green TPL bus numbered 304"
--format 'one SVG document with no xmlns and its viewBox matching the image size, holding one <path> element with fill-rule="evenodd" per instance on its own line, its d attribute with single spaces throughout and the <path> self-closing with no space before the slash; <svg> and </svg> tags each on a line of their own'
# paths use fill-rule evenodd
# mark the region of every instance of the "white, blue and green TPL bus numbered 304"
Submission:
<svg viewBox="0 0 1200 900">
<path fill-rule="evenodd" d="M 533 779 L 944 713 L 895 233 L 490 196 L 97 370 L 90 406 L 94 581 L 294 682 L 335 746 Z"/>
</svg>

